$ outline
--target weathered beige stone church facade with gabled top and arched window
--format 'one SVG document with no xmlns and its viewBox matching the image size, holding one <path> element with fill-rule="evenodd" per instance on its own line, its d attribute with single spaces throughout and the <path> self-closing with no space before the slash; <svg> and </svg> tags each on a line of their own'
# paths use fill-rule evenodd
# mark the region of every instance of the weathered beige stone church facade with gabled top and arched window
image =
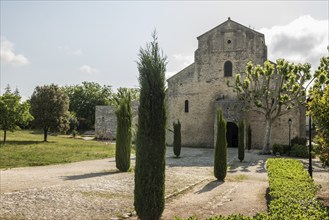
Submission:
<svg viewBox="0 0 329 220">
<path fill-rule="evenodd" d="M 221 107 L 227 120 L 229 147 L 237 146 L 237 124 L 245 120 L 252 128 L 252 146 L 261 147 L 264 116 L 255 111 L 244 112 L 232 84 L 237 73 L 244 73 L 246 64 L 263 64 L 267 60 L 264 34 L 247 28 L 230 18 L 197 37 L 194 63 L 167 80 L 167 126 L 181 122 L 182 146 L 213 147 L 215 112 Z M 291 137 L 305 136 L 305 110 L 300 107 L 278 118 L 272 125 L 271 146 L 288 144 L 288 120 L 292 119 Z M 173 133 L 167 132 L 167 143 L 173 143 Z"/>
</svg>

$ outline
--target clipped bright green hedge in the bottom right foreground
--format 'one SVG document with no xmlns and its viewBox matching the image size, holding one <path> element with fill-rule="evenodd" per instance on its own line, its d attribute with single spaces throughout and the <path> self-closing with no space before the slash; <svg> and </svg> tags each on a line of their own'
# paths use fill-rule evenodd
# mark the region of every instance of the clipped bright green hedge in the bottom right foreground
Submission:
<svg viewBox="0 0 329 220">
<path fill-rule="evenodd" d="M 314 181 L 298 160 L 268 159 L 270 219 L 326 219 L 326 208 L 316 199 Z"/>
</svg>

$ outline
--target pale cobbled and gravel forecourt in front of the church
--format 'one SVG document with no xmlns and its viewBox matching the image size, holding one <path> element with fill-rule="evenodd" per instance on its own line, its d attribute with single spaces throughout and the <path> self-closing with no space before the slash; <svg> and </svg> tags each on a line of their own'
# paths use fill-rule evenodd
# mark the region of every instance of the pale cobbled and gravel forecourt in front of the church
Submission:
<svg viewBox="0 0 329 220">
<path fill-rule="evenodd" d="M 167 148 L 163 219 L 266 212 L 269 156 L 254 150 L 239 162 L 237 149 L 229 149 L 220 182 L 213 177 L 213 149 L 183 148 L 178 159 L 172 151 Z M 319 197 L 328 202 L 329 171 L 317 161 L 314 169 Z M 0 190 L 0 219 L 137 219 L 134 173 L 118 172 L 114 158 L 0 170 Z"/>
</svg>

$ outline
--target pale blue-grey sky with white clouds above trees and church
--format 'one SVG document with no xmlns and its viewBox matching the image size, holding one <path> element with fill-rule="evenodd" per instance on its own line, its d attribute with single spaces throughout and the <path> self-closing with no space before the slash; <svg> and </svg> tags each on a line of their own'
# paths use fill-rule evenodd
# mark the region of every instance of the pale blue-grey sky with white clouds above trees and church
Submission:
<svg viewBox="0 0 329 220">
<path fill-rule="evenodd" d="M 318 65 L 328 1 L 2 1 L 1 94 L 94 81 L 138 87 L 137 55 L 157 29 L 167 76 L 193 62 L 196 37 L 228 17 L 265 34 L 268 58 Z"/>
</svg>

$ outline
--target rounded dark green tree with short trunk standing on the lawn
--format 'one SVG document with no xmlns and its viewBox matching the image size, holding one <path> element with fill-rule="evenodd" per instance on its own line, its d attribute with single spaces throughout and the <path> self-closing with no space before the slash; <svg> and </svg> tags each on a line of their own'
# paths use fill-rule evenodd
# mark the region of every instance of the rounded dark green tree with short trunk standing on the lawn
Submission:
<svg viewBox="0 0 329 220">
<path fill-rule="evenodd" d="M 43 129 L 47 141 L 49 129 L 66 130 L 69 98 L 57 85 L 37 86 L 30 100 L 31 114 L 36 127 Z"/>
</svg>

